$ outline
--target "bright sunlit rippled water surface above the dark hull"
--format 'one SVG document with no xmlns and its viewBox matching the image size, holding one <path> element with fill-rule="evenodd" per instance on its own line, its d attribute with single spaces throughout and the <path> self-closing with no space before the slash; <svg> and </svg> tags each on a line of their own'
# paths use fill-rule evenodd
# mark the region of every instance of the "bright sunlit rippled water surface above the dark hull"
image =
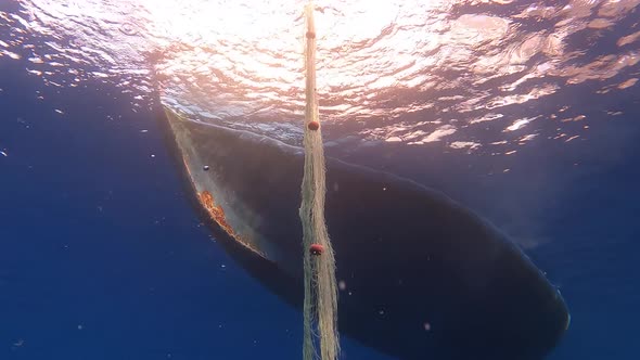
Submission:
<svg viewBox="0 0 640 360">
<path fill-rule="evenodd" d="M 30 48 L 27 70 L 47 83 L 98 77 L 142 98 L 159 89 L 203 120 L 299 138 L 304 1 L 18 2 L 20 13 L 1 14 L 12 33 L 2 54 Z M 538 136 L 589 137 L 571 99 L 543 112 L 534 101 L 633 88 L 638 3 L 317 1 L 323 119 L 364 140 L 500 154 Z"/>
</svg>

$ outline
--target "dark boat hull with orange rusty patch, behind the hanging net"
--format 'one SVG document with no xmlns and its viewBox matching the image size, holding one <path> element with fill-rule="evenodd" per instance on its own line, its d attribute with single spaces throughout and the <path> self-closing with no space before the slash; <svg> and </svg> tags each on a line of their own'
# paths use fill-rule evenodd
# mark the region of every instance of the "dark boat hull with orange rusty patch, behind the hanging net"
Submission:
<svg viewBox="0 0 640 360">
<path fill-rule="evenodd" d="M 166 110 L 189 193 L 226 249 L 303 300 L 302 149 Z M 327 223 L 343 334 L 400 359 L 541 359 L 568 325 L 543 274 L 487 221 L 436 191 L 327 159 Z"/>
</svg>

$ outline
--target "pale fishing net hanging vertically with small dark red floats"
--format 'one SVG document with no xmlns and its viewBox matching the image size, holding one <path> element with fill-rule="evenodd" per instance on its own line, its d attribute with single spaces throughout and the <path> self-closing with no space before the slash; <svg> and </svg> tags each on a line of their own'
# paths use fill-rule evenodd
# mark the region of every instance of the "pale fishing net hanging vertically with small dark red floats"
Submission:
<svg viewBox="0 0 640 360">
<path fill-rule="evenodd" d="M 305 13 L 305 166 L 299 208 L 305 272 L 303 359 L 335 360 L 340 353 L 337 286 L 335 257 L 324 222 L 325 164 L 316 92 L 316 26 L 311 2 Z M 313 128 L 311 123 L 318 126 Z M 321 246 L 321 254 L 312 254 L 311 245 Z"/>
</svg>

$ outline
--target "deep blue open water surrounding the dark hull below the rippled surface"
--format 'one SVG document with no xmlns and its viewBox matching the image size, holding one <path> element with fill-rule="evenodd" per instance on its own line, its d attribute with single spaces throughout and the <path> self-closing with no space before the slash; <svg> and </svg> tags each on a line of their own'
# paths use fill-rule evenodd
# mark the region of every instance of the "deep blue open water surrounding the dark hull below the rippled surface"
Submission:
<svg viewBox="0 0 640 360">
<path fill-rule="evenodd" d="M 299 358 L 300 314 L 200 222 L 157 113 L 132 108 L 121 89 L 99 80 L 44 86 L 25 72 L 27 52 L 0 57 L 0 359 Z M 534 143 L 514 156 L 527 166 L 508 179 L 470 181 L 457 169 L 469 162 L 461 155 L 426 172 L 394 157 L 392 145 L 344 155 L 377 158 L 487 208 L 530 171 L 545 169 L 536 183 L 562 185 L 540 216 L 553 241 L 527 249 L 572 312 L 553 360 L 640 352 L 640 92 L 592 90 L 562 92 L 589 118 L 589 141 Z M 622 115 L 603 114 L 613 107 Z M 523 202 L 549 189 L 527 189 Z M 349 339 L 343 348 L 344 359 L 387 359 Z"/>
</svg>

